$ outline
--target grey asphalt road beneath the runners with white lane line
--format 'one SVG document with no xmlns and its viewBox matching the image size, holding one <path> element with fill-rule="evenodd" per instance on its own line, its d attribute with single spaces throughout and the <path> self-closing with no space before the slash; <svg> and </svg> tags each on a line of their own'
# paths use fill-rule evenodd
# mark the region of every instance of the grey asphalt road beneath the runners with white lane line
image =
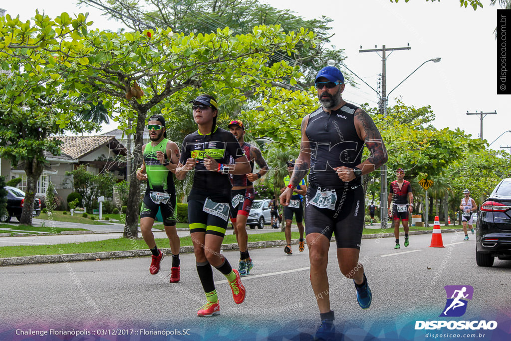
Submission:
<svg viewBox="0 0 511 341">
<path fill-rule="evenodd" d="M 509 320 L 511 261 L 478 267 L 474 238 L 462 237 L 444 233 L 446 247 L 430 248 L 431 235 L 411 236 L 410 246 L 401 250 L 393 249 L 392 238 L 362 240 L 360 259 L 373 291 L 367 310 L 357 305 L 353 282 L 340 274 L 331 243 L 328 272 L 337 331 L 345 339 L 425 339 L 424 331 L 414 331 L 413 325 L 415 320 L 439 319 L 445 285 L 474 287 L 463 320 Z M 238 306 L 214 269 L 221 314 L 209 319 L 196 317 L 204 293 L 193 254 L 181 255 L 177 284 L 168 282 L 170 257 L 156 276 L 149 274 L 149 257 L 2 267 L 0 338 L 15 328 L 128 328 L 138 333 L 144 328 L 189 329 L 192 335 L 178 339 L 311 339 L 319 311 L 309 282 L 308 250 L 295 248 L 291 256 L 282 247 L 250 251 L 255 267 L 243 279 L 247 297 Z M 239 258 L 238 252 L 224 255 L 233 265 Z M 140 334 L 130 339 L 140 339 Z"/>
</svg>

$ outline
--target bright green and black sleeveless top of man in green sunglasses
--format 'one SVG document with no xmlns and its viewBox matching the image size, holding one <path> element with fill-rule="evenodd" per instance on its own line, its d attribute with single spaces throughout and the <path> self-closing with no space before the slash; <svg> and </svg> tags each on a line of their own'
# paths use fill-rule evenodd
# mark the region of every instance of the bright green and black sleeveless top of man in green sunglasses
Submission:
<svg viewBox="0 0 511 341">
<path fill-rule="evenodd" d="M 165 155 L 165 161 L 167 161 L 168 157 L 165 149 L 168 142 L 169 140 L 163 139 L 154 147 L 151 146 L 151 143 L 148 143 L 144 148 L 143 157 L 146 163 L 148 192 L 176 193 L 172 172 L 156 158 L 156 152 L 161 151 Z"/>
</svg>

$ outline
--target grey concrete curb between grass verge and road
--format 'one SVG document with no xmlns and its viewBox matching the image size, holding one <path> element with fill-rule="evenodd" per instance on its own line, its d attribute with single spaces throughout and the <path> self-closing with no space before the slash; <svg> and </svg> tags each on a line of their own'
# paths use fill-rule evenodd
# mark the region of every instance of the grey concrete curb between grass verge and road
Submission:
<svg viewBox="0 0 511 341">
<path fill-rule="evenodd" d="M 461 230 L 462 231 L 462 230 Z M 71 231 L 73 232 L 73 231 Z M 442 232 L 459 232 L 457 229 L 446 229 Z M 410 231 L 409 235 L 423 235 L 432 234 L 432 231 Z M 393 233 L 378 233 L 370 235 L 362 235 L 362 239 L 373 239 L 373 238 L 388 238 L 393 237 Z M 400 233 L 400 236 L 404 236 L 404 232 Z M 332 236 L 332 240 L 335 241 L 335 236 Z M 291 244 L 298 244 L 299 239 L 292 239 Z M 247 247 L 249 248 L 264 248 L 274 246 L 285 246 L 285 240 L 266 240 L 258 242 L 249 242 Z M 222 251 L 231 251 L 238 249 L 238 244 L 224 244 L 220 248 Z M 170 247 L 160 248 L 162 252 L 169 255 L 171 253 Z M 193 253 L 193 246 L 181 246 L 179 253 Z M 27 257 L 9 257 L 0 258 L 0 266 L 7 265 L 24 265 L 24 264 L 42 264 L 42 263 L 67 263 L 67 262 L 78 262 L 87 260 L 103 260 L 103 259 L 114 259 L 114 258 L 129 258 L 129 257 L 144 257 L 150 256 L 151 251 L 148 249 L 144 250 L 128 250 L 128 251 L 108 251 L 108 252 L 94 252 L 88 254 L 61 254 L 61 255 L 44 255 L 44 256 L 27 256 Z"/>
</svg>

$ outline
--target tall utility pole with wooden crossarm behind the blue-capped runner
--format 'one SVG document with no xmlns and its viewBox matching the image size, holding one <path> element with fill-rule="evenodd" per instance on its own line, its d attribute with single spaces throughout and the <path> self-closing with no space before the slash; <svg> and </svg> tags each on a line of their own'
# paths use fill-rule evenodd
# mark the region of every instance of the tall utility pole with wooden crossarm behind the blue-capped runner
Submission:
<svg viewBox="0 0 511 341">
<path fill-rule="evenodd" d="M 362 49 L 362 47 L 360 47 Z M 380 107 L 380 113 L 383 115 L 383 117 L 387 117 L 387 73 L 386 73 L 386 62 L 387 62 L 387 51 L 397 51 L 397 50 L 410 50 L 410 44 L 408 43 L 408 46 L 406 48 L 390 48 L 387 49 L 384 46 L 382 46 L 381 49 L 377 49 L 375 46 L 375 49 L 371 50 L 359 50 L 358 52 L 381 52 L 382 53 L 382 97 L 381 97 L 381 107 Z M 387 165 L 383 165 L 380 167 L 380 228 L 381 229 L 387 229 L 387 211 L 388 211 L 388 203 L 387 203 Z"/>
</svg>

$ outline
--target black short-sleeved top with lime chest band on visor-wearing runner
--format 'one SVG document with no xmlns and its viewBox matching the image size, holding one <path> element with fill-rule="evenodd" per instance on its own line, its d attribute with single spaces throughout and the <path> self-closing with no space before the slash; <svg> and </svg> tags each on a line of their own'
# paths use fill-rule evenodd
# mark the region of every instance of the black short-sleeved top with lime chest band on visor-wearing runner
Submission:
<svg viewBox="0 0 511 341">
<path fill-rule="evenodd" d="M 204 167 L 204 157 L 210 155 L 219 164 L 229 164 L 230 156 L 234 160 L 243 156 L 243 149 L 233 134 L 229 131 L 215 127 L 211 134 L 203 135 L 198 130 L 187 135 L 181 147 L 179 162 L 185 164 L 189 158 L 195 158 L 195 173 L 193 178 L 192 192 L 189 199 L 200 193 L 200 196 L 222 198 L 230 201 L 231 184 L 229 175 L 215 171 L 208 171 Z M 195 191 L 194 191 L 195 190 Z M 197 198 L 200 200 L 201 198 Z M 225 202 L 225 201 L 218 201 Z"/>
</svg>

